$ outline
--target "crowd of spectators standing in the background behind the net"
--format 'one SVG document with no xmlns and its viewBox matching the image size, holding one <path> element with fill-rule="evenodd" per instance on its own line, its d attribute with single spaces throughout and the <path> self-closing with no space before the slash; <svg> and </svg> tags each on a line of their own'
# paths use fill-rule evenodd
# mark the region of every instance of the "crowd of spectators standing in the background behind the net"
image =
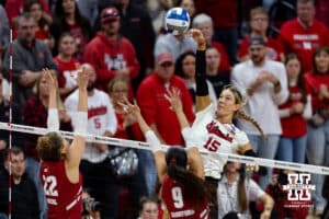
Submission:
<svg viewBox="0 0 329 219">
<path fill-rule="evenodd" d="M 42 70 L 48 68 L 58 79 L 60 130 L 75 130 L 71 119 L 78 100 L 75 77 L 82 65 L 91 78 L 89 134 L 144 141 L 136 120 L 118 104 L 127 97 L 137 101 L 161 143 L 184 147 L 178 118 L 164 94 L 171 88 L 180 90 L 184 114 L 192 124 L 196 43 L 186 34 L 166 33 L 163 18 L 172 7 L 185 8 L 191 15 L 191 27 L 201 30 L 205 36 L 206 79 L 213 103 L 217 104 L 225 85 L 234 84 L 245 97 L 245 112 L 264 130 L 266 138 L 249 124 L 237 120 L 257 154 L 328 165 L 327 0 L 0 1 L 0 120 L 9 120 L 8 82 L 12 79 L 13 123 L 47 126 L 49 93 Z M 14 36 L 12 49 L 10 30 Z M 8 148 L 8 135 L 0 131 L 1 151 Z M 35 184 L 24 201 L 38 197 L 37 208 L 29 214 L 39 211 L 41 218 L 45 218 L 47 207 L 38 177 L 36 140 L 37 136 L 13 134 L 13 146 L 24 152 L 21 155 L 15 149 L 14 158 L 20 157 L 18 162 L 24 159 L 26 163 L 24 174 L 20 174 L 19 184 L 14 185 L 22 182 L 21 187 L 26 189 L 32 182 Z M 100 210 L 102 218 L 136 218 L 139 198 L 157 193 L 155 160 L 151 152 L 136 150 L 138 170 L 123 180 L 112 170 L 110 154 L 114 148 L 87 143 L 80 165 L 83 183 L 106 206 Z M 9 159 L 4 158 L 2 163 Z M 8 177 L 5 168 L 0 168 L 0 173 L 1 178 Z M 327 204 L 321 194 L 324 176 L 313 174 L 311 181 L 317 187 L 313 194 L 314 207 L 321 214 Z M 258 183 L 265 189 L 271 182 L 269 169 Z M 1 197 L 4 192 L 0 189 Z M 143 206 L 151 204 L 155 201 L 143 201 Z M 132 210 L 123 210 L 122 205 L 131 205 Z M 0 207 L 0 214 L 5 214 L 5 207 Z M 144 207 L 140 209 L 143 218 L 146 212 Z M 160 212 L 161 208 L 154 215 L 158 217 Z"/>
</svg>

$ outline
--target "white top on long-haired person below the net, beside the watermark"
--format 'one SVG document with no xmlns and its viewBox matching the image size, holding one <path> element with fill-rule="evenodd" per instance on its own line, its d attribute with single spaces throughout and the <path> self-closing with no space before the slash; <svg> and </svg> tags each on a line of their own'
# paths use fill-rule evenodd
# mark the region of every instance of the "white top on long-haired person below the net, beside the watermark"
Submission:
<svg viewBox="0 0 329 219">
<path fill-rule="evenodd" d="M 227 178 L 225 176 L 218 182 L 218 187 L 217 187 L 218 219 L 222 219 L 229 211 L 239 212 L 238 182 L 239 182 L 239 177 L 237 177 L 237 180 L 234 181 L 232 184 L 229 186 L 227 183 Z M 248 204 L 249 201 L 258 200 L 265 193 L 251 178 L 245 180 L 245 191 L 246 191 Z M 251 219 L 249 208 L 246 212 L 241 214 L 239 218 Z"/>
</svg>

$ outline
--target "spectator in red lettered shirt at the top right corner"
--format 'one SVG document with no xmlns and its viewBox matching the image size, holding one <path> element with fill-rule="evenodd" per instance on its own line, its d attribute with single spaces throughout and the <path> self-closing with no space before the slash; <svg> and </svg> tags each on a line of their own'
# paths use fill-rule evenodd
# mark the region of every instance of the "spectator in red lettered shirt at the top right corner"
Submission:
<svg viewBox="0 0 329 219">
<path fill-rule="evenodd" d="M 280 33 L 285 54 L 297 54 L 304 72 L 311 70 L 313 53 L 329 45 L 328 36 L 328 28 L 315 19 L 314 0 L 298 0 L 297 18 L 285 22 Z"/>
</svg>

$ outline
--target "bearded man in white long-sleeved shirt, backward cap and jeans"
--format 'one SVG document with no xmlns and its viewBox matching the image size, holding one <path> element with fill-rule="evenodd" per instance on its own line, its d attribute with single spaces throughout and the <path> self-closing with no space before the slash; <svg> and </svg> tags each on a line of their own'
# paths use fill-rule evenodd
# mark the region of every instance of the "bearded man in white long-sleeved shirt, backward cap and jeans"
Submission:
<svg viewBox="0 0 329 219">
<path fill-rule="evenodd" d="M 246 100 L 243 110 L 261 125 L 266 138 L 245 120 L 238 120 L 238 127 L 247 132 L 259 157 L 274 159 L 282 134 L 277 105 L 288 97 L 286 71 L 283 64 L 265 58 L 266 46 L 261 36 L 250 38 L 249 56 L 250 60 L 234 67 L 230 80 Z M 271 170 L 268 177 L 261 176 L 261 187 L 271 176 Z"/>
</svg>

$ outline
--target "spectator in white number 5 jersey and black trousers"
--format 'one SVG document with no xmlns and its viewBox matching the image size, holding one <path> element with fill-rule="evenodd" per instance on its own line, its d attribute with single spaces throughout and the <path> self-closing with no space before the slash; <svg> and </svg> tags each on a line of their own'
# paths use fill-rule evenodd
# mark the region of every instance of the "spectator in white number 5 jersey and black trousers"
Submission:
<svg viewBox="0 0 329 219">
<path fill-rule="evenodd" d="M 81 67 L 89 72 L 87 131 L 90 135 L 112 137 L 116 131 L 117 120 L 110 97 L 105 92 L 94 88 L 97 80 L 94 68 L 89 64 Z M 78 99 L 78 90 L 76 90 L 65 101 L 66 110 L 71 114 L 73 129 L 78 124 L 75 116 Z M 89 187 L 91 195 L 106 206 L 101 209 L 101 217 L 116 218 L 118 186 L 111 175 L 107 153 L 109 146 L 105 143 L 86 143 L 80 170 L 83 186 Z"/>
</svg>

